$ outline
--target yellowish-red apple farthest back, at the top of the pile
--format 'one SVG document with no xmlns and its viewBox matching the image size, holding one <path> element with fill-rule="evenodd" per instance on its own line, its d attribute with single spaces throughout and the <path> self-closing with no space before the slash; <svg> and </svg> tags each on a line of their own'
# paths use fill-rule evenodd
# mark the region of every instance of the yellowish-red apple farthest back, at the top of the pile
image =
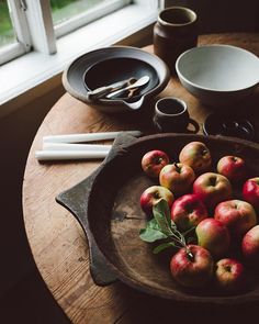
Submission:
<svg viewBox="0 0 259 324">
<path fill-rule="evenodd" d="M 207 171 L 212 164 L 211 153 L 202 142 L 187 144 L 180 152 L 179 160 L 190 166 L 195 174 Z"/>
</svg>

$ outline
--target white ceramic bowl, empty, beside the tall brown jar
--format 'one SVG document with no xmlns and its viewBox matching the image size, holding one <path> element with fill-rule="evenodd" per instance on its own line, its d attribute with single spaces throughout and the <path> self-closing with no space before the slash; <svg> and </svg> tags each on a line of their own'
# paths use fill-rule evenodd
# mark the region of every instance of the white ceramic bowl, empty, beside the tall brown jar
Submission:
<svg viewBox="0 0 259 324">
<path fill-rule="evenodd" d="M 250 94 L 259 82 L 259 58 L 230 45 L 205 45 L 176 62 L 182 86 L 203 103 L 229 105 Z"/>
</svg>

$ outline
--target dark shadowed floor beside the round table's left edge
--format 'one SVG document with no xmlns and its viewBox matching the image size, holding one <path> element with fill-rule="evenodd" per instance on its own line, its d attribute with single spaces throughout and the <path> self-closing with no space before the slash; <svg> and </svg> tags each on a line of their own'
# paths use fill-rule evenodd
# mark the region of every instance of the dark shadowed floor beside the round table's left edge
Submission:
<svg viewBox="0 0 259 324">
<path fill-rule="evenodd" d="M 63 89 L 52 94 L 55 102 Z M 53 102 L 38 100 L 0 120 L 0 323 L 70 323 L 47 290 L 34 264 L 24 230 L 22 180 L 35 132 Z M 36 114 L 32 113 L 37 108 Z M 25 130 L 24 130 L 25 129 Z"/>
</svg>

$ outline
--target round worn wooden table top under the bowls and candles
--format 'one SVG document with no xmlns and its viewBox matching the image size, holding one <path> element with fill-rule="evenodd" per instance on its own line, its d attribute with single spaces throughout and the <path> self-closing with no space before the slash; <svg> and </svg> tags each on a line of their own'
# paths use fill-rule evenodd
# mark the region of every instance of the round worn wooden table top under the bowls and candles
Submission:
<svg viewBox="0 0 259 324">
<path fill-rule="evenodd" d="M 259 34 L 200 36 L 200 44 L 213 43 L 240 46 L 259 55 Z M 151 52 L 153 47 L 146 49 Z M 246 107 L 237 105 L 237 109 L 254 115 L 257 124 L 258 94 L 257 91 Z M 159 94 L 165 96 L 185 100 L 191 118 L 200 126 L 211 113 L 181 87 L 177 78 L 172 78 Z M 75 217 L 55 202 L 55 197 L 88 177 L 101 161 L 38 164 L 34 157 L 34 152 L 42 148 L 42 138 L 45 135 L 136 129 L 153 132 L 146 115 L 136 118 L 100 113 L 66 93 L 43 121 L 29 154 L 23 183 L 27 238 L 44 281 L 72 323 L 166 323 L 167 316 L 173 321 L 181 319 L 185 323 L 184 321 L 195 316 L 192 313 L 195 312 L 194 309 L 189 308 L 189 312 L 182 312 L 181 304 L 143 295 L 120 282 L 104 288 L 97 287 L 89 273 L 85 234 Z M 207 316 L 211 316 L 211 311 L 207 311 Z M 204 310 L 202 316 L 205 320 Z M 218 316 L 218 312 L 214 316 Z"/>
</svg>

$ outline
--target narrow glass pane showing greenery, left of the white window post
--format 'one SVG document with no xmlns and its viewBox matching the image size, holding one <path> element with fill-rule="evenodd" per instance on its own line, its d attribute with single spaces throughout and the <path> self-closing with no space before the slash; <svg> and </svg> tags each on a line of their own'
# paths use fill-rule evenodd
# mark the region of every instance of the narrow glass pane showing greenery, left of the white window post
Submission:
<svg viewBox="0 0 259 324">
<path fill-rule="evenodd" d="M 16 42 L 10 19 L 8 1 L 0 0 L 0 47 Z"/>
</svg>

